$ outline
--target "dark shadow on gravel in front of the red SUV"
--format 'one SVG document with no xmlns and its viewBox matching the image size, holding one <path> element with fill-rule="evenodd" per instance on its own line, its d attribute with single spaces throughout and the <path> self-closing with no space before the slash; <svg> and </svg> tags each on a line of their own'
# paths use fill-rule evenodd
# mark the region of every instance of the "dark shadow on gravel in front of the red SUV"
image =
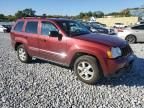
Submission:
<svg viewBox="0 0 144 108">
<path fill-rule="evenodd" d="M 114 78 L 104 78 L 97 85 L 109 86 L 144 86 L 144 59 L 137 58 L 130 72 Z"/>
</svg>

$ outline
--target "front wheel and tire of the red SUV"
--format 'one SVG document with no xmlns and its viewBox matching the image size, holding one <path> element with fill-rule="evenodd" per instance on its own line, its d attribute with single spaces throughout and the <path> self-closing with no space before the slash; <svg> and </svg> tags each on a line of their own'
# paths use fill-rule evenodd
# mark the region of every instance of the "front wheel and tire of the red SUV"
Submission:
<svg viewBox="0 0 144 108">
<path fill-rule="evenodd" d="M 87 84 L 96 84 L 101 78 L 98 61 L 92 56 L 79 57 L 74 63 L 74 71 L 78 79 Z"/>
</svg>

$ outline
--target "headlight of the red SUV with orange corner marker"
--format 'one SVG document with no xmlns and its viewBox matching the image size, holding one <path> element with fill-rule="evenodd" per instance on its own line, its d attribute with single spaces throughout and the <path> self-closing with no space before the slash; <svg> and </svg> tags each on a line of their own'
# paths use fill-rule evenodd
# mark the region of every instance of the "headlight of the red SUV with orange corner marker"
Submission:
<svg viewBox="0 0 144 108">
<path fill-rule="evenodd" d="M 112 47 L 111 51 L 107 51 L 108 58 L 117 58 L 122 55 L 121 49 L 119 47 Z"/>
</svg>

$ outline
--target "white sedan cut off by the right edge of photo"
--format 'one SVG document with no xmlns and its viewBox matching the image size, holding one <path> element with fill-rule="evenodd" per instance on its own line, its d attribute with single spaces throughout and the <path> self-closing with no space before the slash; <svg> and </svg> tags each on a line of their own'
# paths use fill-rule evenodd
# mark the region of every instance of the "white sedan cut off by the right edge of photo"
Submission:
<svg viewBox="0 0 144 108">
<path fill-rule="evenodd" d="M 118 37 L 127 40 L 129 43 L 144 42 L 144 24 L 119 30 Z"/>
</svg>

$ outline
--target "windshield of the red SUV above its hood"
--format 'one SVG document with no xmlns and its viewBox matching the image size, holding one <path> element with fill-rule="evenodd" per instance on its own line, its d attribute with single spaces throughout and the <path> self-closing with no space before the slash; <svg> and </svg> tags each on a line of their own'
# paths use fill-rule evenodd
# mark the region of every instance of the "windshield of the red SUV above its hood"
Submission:
<svg viewBox="0 0 144 108">
<path fill-rule="evenodd" d="M 90 33 L 84 25 L 76 21 L 57 21 L 57 23 L 71 37 Z"/>
</svg>

